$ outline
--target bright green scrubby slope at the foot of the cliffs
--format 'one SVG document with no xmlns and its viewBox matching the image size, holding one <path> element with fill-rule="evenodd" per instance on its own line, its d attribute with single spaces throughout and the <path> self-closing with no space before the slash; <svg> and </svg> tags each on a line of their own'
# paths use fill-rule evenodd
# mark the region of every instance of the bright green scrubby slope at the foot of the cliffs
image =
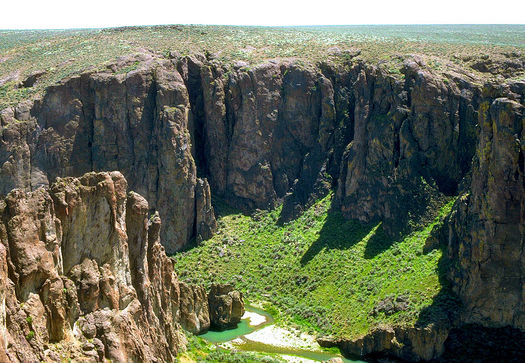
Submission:
<svg viewBox="0 0 525 363">
<path fill-rule="evenodd" d="M 331 196 L 282 226 L 280 208 L 246 216 L 215 203 L 218 233 L 176 254 L 175 269 L 193 283 L 232 283 L 278 323 L 311 333 L 352 338 L 379 324 L 413 325 L 422 312 L 436 319 L 439 306 L 451 301 L 441 250 L 425 242 L 453 202 L 399 241 L 380 223 L 345 220 L 330 209 Z"/>
</svg>

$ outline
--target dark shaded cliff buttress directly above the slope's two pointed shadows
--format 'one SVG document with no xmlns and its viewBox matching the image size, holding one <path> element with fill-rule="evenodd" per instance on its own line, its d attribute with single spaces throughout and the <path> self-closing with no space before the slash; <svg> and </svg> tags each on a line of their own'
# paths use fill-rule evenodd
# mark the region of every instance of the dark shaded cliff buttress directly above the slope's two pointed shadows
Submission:
<svg viewBox="0 0 525 363">
<path fill-rule="evenodd" d="M 365 67 L 354 88 L 354 133 L 343 154 L 338 199 L 363 222 L 394 233 L 456 193 L 470 168 L 480 90 L 447 82 L 416 60 L 403 82 Z M 429 208 L 430 207 L 430 208 Z"/>
</svg>

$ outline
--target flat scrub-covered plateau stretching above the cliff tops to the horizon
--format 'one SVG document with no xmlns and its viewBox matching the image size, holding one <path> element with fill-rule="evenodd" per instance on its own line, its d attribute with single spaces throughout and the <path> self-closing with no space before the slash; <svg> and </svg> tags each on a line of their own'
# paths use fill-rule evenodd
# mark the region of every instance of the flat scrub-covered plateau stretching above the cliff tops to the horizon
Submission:
<svg viewBox="0 0 525 363">
<path fill-rule="evenodd" d="M 424 54 L 432 68 L 446 72 L 459 65 L 482 76 L 469 67 L 479 62 L 480 57 L 523 59 L 524 39 L 523 25 L 177 25 L 102 30 L 0 30 L 0 109 L 38 95 L 65 77 L 104 68 L 117 57 L 144 51 L 165 57 L 199 52 L 225 63 L 241 60 L 251 65 L 267 59 L 293 59 L 312 64 L 326 60 L 366 60 L 391 70 L 394 75 L 399 73 L 404 56 Z M 133 69 L 131 66 L 120 72 Z M 46 73 L 34 87 L 18 87 L 18 82 L 35 71 Z M 520 75 L 523 76 L 522 72 Z"/>
</svg>

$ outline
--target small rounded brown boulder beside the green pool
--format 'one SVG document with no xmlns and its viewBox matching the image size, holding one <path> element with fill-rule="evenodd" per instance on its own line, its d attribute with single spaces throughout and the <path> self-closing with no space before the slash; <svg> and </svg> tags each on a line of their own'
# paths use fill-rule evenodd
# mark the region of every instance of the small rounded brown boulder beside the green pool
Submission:
<svg viewBox="0 0 525 363">
<path fill-rule="evenodd" d="M 215 284 L 208 294 L 210 322 L 216 329 L 235 327 L 244 315 L 242 293 L 228 284 Z"/>
</svg>

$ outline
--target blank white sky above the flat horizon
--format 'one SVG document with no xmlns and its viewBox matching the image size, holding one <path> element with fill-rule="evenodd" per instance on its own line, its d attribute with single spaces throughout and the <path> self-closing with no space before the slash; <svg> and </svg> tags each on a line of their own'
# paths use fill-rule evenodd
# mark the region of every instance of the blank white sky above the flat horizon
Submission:
<svg viewBox="0 0 525 363">
<path fill-rule="evenodd" d="M 0 9 L 0 29 L 525 23 L 525 0 L 2 0 Z"/>
</svg>

